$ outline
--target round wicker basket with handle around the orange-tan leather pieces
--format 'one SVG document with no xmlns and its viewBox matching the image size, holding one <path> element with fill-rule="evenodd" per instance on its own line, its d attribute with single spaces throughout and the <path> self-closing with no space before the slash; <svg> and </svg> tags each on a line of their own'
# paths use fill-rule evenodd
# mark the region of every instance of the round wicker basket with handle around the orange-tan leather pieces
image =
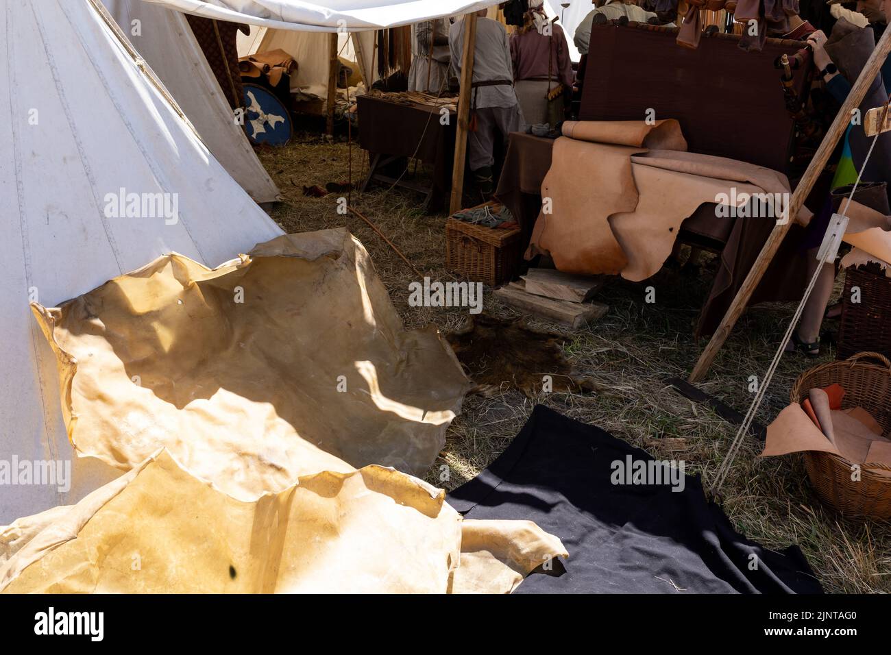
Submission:
<svg viewBox="0 0 891 655">
<path fill-rule="evenodd" d="M 881 364 L 868 363 L 874 359 Z M 800 403 L 810 389 L 828 387 L 838 382 L 845 389 L 844 409 L 860 406 L 882 426 L 891 431 L 891 362 L 879 353 L 858 353 L 843 362 L 814 366 L 802 373 L 789 394 Z M 837 454 L 805 452 L 807 476 L 820 499 L 846 516 L 891 518 L 891 477 L 883 475 L 891 468 L 879 463 L 864 463 L 861 479 L 851 479 L 851 463 Z"/>
</svg>

